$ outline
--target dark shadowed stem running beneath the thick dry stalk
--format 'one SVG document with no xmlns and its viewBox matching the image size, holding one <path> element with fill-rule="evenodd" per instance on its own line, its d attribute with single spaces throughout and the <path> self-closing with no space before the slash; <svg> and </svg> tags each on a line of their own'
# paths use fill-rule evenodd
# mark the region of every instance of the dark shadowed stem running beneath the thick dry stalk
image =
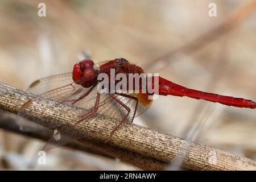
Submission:
<svg viewBox="0 0 256 182">
<path fill-rule="evenodd" d="M 15 114 L 0 110 L 0 128 L 17 134 L 26 135 L 27 137 L 41 139 L 46 142 L 49 138 L 51 138 L 52 132 L 49 132 L 48 130 L 40 130 L 40 132 L 26 132 L 19 130 L 19 128 L 16 126 L 16 119 L 17 117 L 15 117 Z M 134 166 L 144 170 L 164 170 L 168 167 L 168 163 L 160 160 L 156 160 L 115 146 L 110 146 L 110 144 L 98 142 L 97 140 L 93 139 L 79 139 L 77 141 L 68 143 L 65 147 L 89 152 L 90 154 L 101 155 L 106 158 L 118 158 L 122 162 L 133 164 Z"/>
</svg>

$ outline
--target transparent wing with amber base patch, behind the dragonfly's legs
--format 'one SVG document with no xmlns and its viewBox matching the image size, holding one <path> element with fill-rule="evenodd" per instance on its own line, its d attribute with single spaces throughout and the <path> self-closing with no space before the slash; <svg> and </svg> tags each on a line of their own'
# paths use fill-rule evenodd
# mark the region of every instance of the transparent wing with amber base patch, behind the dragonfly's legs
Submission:
<svg viewBox="0 0 256 182">
<path fill-rule="evenodd" d="M 69 123 L 69 125 L 77 125 L 78 123 L 89 121 L 90 117 L 97 117 L 95 113 L 93 113 L 92 115 L 90 114 L 93 112 L 92 110 L 93 108 L 95 108 L 94 106 L 96 106 L 96 97 L 94 97 L 95 95 L 97 95 L 96 88 L 94 88 L 92 92 L 85 99 L 82 99 L 76 103 L 76 105 L 79 107 L 82 107 L 82 108 L 86 107 L 89 109 L 87 109 L 84 113 L 82 113 L 82 115 L 80 115 L 77 118 L 77 120 L 72 121 L 72 123 Z M 125 119 L 124 122 L 131 122 L 134 116 L 142 114 L 151 105 L 151 101 L 148 101 L 147 105 L 143 104 L 141 102 L 142 100 L 140 97 L 141 96 L 135 93 L 113 94 L 112 97 L 110 96 L 110 94 L 107 94 L 107 93 L 100 94 L 100 101 L 99 101 L 99 104 L 97 105 L 96 113 L 101 117 L 103 115 L 106 118 L 117 119 L 117 121 L 119 122 L 121 122 L 123 119 Z M 124 107 L 123 105 L 125 105 L 126 107 Z M 126 114 L 129 111 L 130 111 L 129 115 L 127 115 L 127 117 L 125 118 Z M 89 115 L 89 117 L 86 117 L 86 115 Z M 80 121 L 81 118 L 82 120 Z M 44 147 L 44 150 L 47 151 L 54 147 L 63 146 L 64 144 L 67 144 L 72 140 L 86 137 L 84 135 L 69 133 L 68 130 L 63 130 L 65 127 L 66 126 L 63 126 L 61 129 L 59 129 L 60 133 L 57 133 L 57 135 L 59 136 L 57 137 L 56 135 L 52 136 L 52 138 L 49 140 L 49 142 L 47 142 L 46 146 Z M 112 130 L 114 129 L 115 128 L 113 128 Z M 56 138 L 58 139 L 56 140 Z"/>
</svg>

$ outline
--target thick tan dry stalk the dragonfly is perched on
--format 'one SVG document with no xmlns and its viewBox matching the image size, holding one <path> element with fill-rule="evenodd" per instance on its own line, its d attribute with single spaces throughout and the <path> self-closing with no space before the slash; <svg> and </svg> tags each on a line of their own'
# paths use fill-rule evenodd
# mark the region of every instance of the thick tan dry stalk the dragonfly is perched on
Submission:
<svg viewBox="0 0 256 182">
<path fill-rule="evenodd" d="M 34 94 L 23 92 L 1 82 L 0 96 L 0 109 L 11 113 L 17 113 L 24 102 L 36 97 Z M 73 122 L 81 113 L 82 110 L 77 107 L 63 104 L 56 106 L 55 101 L 40 98 L 31 105 L 28 117 L 36 119 L 42 125 L 51 123 L 60 127 Z M 90 138 L 88 141 L 80 140 L 85 145 L 105 154 L 109 152 L 111 156 L 143 169 L 163 169 L 174 158 L 182 162 L 183 168 L 192 170 L 256 169 L 254 160 L 131 123 L 125 123 L 109 142 L 104 144 L 117 123 L 118 121 L 114 119 L 92 117 L 79 125 L 69 125 L 68 130 Z M 213 154 L 216 154 L 216 158 Z M 215 159 L 216 163 L 213 162 Z"/>
</svg>

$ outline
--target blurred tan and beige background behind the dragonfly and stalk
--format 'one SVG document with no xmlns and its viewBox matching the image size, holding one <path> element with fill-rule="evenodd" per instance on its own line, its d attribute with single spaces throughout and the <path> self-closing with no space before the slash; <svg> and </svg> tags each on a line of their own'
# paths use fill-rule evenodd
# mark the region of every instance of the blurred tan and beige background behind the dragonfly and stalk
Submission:
<svg viewBox="0 0 256 182">
<path fill-rule="evenodd" d="M 38 16 L 40 2 L 46 3 L 46 17 Z M 210 2 L 217 5 L 217 17 L 208 15 Z M 82 52 L 88 52 L 96 62 L 123 57 L 177 84 L 255 101 L 256 8 L 203 46 L 183 47 L 246 3 L 1 1 L 0 81 L 25 90 L 40 77 L 71 72 Z M 162 96 L 134 123 L 256 160 L 255 110 Z M 43 144 L 0 130 L 0 169 L 31 169 L 28 161 Z M 47 161 L 32 169 L 138 169 L 63 147 Z"/>
</svg>

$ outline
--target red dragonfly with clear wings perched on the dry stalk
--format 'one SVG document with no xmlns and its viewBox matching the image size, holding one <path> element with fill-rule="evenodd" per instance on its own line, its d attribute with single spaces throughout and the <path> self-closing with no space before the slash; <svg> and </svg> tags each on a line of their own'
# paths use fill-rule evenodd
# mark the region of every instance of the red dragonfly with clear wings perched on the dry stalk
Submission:
<svg viewBox="0 0 256 182">
<path fill-rule="evenodd" d="M 141 67 L 131 64 L 122 58 L 103 61 L 97 64 L 94 64 L 92 60 L 85 59 L 74 65 L 73 73 L 36 80 L 30 85 L 28 90 L 40 94 L 40 96 L 61 101 L 60 103 L 70 103 L 85 109 L 84 115 L 76 123 L 84 121 L 84 119 L 92 117 L 96 113 L 106 115 L 108 118 L 118 119 L 119 124 L 111 131 L 111 134 L 113 134 L 123 122 L 133 122 L 134 117 L 146 111 L 150 107 L 152 100 L 148 99 L 150 93 L 147 92 L 128 93 L 115 92 L 115 90 L 114 93 L 98 92 L 97 85 L 101 82 L 97 80 L 98 75 L 100 73 L 110 75 L 110 69 L 114 69 L 115 75 L 124 73 L 127 77 L 129 73 L 144 73 Z M 247 107 L 251 109 L 256 107 L 255 102 L 251 100 L 193 90 L 177 85 L 162 77 L 158 78 L 158 94 L 162 96 L 187 96 L 234 107 Z M 113 80 L 109 80 L 109 82 L 113 82 Z M 114 84 L 118 84 L 118 81 L 114 81 Z M 139 84 L 141 89 L 141 82 L 134 82 L 134 86 L 136 84 Z M 152 86 L 155 86 L 154 81 L 152 81 Z M 48 88 L 47 92 L 43 92 L 42 90 L 46 87 Z M 27 101 L 22 106 L 22 109 L 25 109 L 31 103 L 32 100 Z"/>
</svg>

